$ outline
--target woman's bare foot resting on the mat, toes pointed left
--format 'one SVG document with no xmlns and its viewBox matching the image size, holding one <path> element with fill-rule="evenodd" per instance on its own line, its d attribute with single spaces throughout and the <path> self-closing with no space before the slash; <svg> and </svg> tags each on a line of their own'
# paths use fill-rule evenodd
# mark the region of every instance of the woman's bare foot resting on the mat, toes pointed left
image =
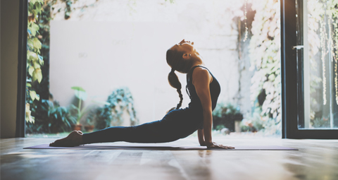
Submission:
<svg viewBox="0 0 338 180">
<path fill-rule="evenodd" d="M 54 143 L 50 143 L 49 146 L 54 147 L 73 147 L 77 145 L 82 145 L 82 132 L 73 131 L 67 137 L 58 139 Z"/>
</svg>

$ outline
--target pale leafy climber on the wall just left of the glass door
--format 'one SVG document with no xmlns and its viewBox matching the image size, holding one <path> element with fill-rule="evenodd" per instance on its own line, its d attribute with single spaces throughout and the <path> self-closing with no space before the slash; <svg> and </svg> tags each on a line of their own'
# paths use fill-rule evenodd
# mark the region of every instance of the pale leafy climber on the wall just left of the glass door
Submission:
<svg viewBox="0 0 338 180">
<path fill-rule="evenodd" d="M 256 11 L 252 22 L 252 37 L 249 44 L 251 71 L 251 102 L 261 108 L 261 116 L 281 123 L 281 77 L 280 77 L 280 3 L 277 0 L 253 1 Z M 258 103 L 259 95 L 265 93 L 263 104 Z M 268 126 L 268 125 L 267 125 Z M 267 128 L 265 126 L 265 128 Z"/>
</svg>

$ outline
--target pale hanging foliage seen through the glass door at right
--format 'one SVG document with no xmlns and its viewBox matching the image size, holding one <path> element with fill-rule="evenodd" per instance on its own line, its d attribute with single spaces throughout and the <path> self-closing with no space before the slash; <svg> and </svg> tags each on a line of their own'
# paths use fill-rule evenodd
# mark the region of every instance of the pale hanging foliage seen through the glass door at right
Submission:
<svg viewBox="0 0 338 180">
<path fill-rule="evenodd" d="M 334 91 L 336 95 L 334 106 L 338 105 L 338 1 L 315 1 L 311 0 L 308 6 L 308 59 L 310 62 L 310 98 L 311 113 L 309 114 L 311 126 L 321 128 L 327 123 L 321 109 L 326 103 L 325 61 L 332 59 L 334 66 Z M 327 56 L 330 54 L 330 56 Z M 330 90 L 330 89 L 329 89 Z M 322 96 L 320 96 L 322 95 Z M 323 101 L 323 102 L 322 102 Z M 330 121 L 329 121 L 330 122 Z"/>
</svg>

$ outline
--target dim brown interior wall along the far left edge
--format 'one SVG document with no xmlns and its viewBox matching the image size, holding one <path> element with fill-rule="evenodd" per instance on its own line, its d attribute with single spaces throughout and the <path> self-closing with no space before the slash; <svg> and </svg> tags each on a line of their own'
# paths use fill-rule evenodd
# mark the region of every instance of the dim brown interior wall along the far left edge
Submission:
<svg viewBox="0 0 338 180">
<path fill-rule="evenodd" d="M 1 0 L 1 138 L 15 137 L 20 1 Z"/>
</svg>

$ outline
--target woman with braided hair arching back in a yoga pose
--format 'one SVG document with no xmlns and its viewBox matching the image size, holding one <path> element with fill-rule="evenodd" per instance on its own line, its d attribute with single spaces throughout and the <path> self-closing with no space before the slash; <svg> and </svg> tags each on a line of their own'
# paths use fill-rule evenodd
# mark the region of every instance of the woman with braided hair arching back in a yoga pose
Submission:
<svg viewBox="0 0 338 180">
<path fill-rule="evenodd" d="M 215 109 L 220 85 L 203 64 L 194 49 L 194 42 L 182 40 L 167 51 L 167 63 L 172 68 L 168 81 L 177 89 L 180 102 L 170 109 L 160 121 L 139 126 L 110 127 L 93 133 L 73 131 L 66 138 L 56 140 L 50 146 L 75 146 L 88 143 L 126 141 L 130 143 L 166 143 L 185 138 L 198 130 L 199 144 L 207 148 L 232 149 L 212 141 L 212 111 Z M 182 105 L 181 83 L 175 71 L 187 73 L 187 93 L 191 99 L 189 107 Z M 189 91 L 189 92 L 188 92 Z"/>
</svg>

